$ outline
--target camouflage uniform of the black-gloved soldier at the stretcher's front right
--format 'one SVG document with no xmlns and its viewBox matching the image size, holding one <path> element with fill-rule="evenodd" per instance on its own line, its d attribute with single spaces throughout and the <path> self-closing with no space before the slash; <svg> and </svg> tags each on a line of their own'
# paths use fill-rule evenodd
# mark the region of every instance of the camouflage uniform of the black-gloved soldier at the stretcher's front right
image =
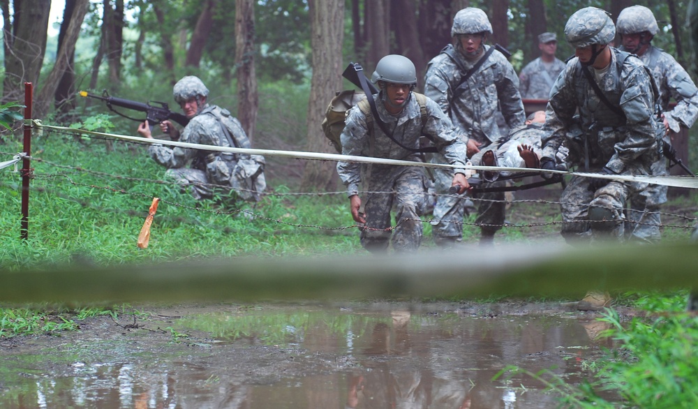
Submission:
<svg viewBox="0 0 698 409">
<path fill-rule="evenodd" d="M 593 24 L 593 20 L 589 22 Z M 568 162 L 585 172 L 601 172 L 605 168 L 616 174 L 649 174 L 660 152 L 653 117 L 652 78 L 637 57 L 613 47 L 609 50 L 611 64 L 598 85 L 609 101 L 623 110 L 624 116 L 619 117 L 600 100 L 582 73 L 593 68 L 581 66 L 579 58 L 574 57 L 551 90 L 543 126 L 546 136 L 542 140 L 542 156 L 554 158 L 565 142 L 570 149 Z M 576 128 L 577 110 L 581 135 L 567 132 Z M 629 192 L 639 192 L 647 184 L 611 181 L 593 191 L 592 181 L 592 178 L 572 177 L 563 191 L 560 199 L 565 222 L 563 237 L 568 241 L 607 235 L 623 239 L 625 200 Z M 590 222 L 591 209 L 601 209 L 603 218 L 612 220 Z"/>
</svg>

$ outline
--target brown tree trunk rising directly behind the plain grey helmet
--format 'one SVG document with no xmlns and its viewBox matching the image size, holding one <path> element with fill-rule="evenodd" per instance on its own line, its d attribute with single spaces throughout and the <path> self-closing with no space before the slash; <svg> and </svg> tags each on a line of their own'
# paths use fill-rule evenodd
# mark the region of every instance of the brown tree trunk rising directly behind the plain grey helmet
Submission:
<svg viewBox="0 0 698 409">
<path fill-rule="evenodd" d="M 398 45 L 398 54 L 410 59 L 417 68 L 417 87 L 424 86 L 424 73 L 428 62 L 419 43 L 419 24 L 413 0 L 393 0 L 390 6 L 393 31 Z"/>
</svg>

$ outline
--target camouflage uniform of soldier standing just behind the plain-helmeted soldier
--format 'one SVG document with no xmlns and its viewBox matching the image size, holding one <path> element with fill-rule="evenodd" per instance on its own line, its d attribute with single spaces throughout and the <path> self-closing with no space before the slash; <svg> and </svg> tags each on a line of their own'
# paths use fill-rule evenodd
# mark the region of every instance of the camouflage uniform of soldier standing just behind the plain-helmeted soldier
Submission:
<svg viewBox="0 0 698 409">
<path fill-rule="evenodd" d="M 489 47 L 484 45 L 484 52 Z M 475 64 L 460 52 L 454 54 L 466 69 Z M 498 107 L 510 128 L 523 124 L 526 115 L 519 94 L 519 77 L 503 54 L 494 50 L 477 72 L 468 78 L 466 90 L 454 100 L 454 89 L 458 87 L 463 74 L 456 62 L 442 53 L 429 61 L 424 80 L 424 94 L 436 101 L 441 110 L 449 115 L 463 142 L 472 137 L 481 142 L 480 149 L 484 149 L 498 140 L 502 136 L 496 121 Z M 443 163 L 444 159 L 443 156 L 434 155 L 432 161 Z M 440 193 L 433 211 L 434 239 L 437 243 L 459 241 L 463 236 L 466 199 L 463 196 L 444 195 L 450 187 L 452 176 L 443 170 L 435 170 L 434 174 L 436 191 Z M 496 182 L 493 186 L 503 186 L 503 183 Z M 475 198 L 480 199 L 476 223 L 482 225 L 484 235 L 491 236 L 504 224 L 504 192 L 479 193 Z"/>
</svg>

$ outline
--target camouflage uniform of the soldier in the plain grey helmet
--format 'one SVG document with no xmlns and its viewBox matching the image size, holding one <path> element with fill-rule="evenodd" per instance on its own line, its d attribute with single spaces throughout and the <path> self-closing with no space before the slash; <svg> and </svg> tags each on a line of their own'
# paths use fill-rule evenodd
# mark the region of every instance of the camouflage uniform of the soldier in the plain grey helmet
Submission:
<svg viewBox="0 0 698 409">
<path fill-rule="evenodd" d="M 447 163 L 465 165 L 466 146 L 453 132 L 451 121 L 433 101 L 426 99 L 426 124 L 416 98 L 410 99 L 399 115 L 385 110 L 383 94 L 373 96 L 376 109 L 392 136 L 406 147 L 419 147 L 419 136 L 431 137 L 436 147 L 447 158 Z M 346 126 L 341 135 L 342 154 L 372 156 L 422 162 L 422 157 L 413 151 L 399 147 L 380 130 L 373 120 L 372 128 L 366 126 L 366 115 L 355 105 L 348 111 Z M 339 162 L 337 172 L 347 186 L 348 196 L 359 193 L 359 183 L 369 191 L 364 202 L 366 225 L 360 234 L 361 244 L 369 251 L 385 251 L 391 237 L 390 210 L 396 209 L 396 226 L 392 235 L 396 251 L 415 251 L 422 243 L 422 222 L 419 216 L 426 208 L 427 188 L 431 181 L 424 168 L 418 166 L 365 165 Z M 464 170 L 459 170 L 464 173 Z M 453 171 L 451 171 L 453 174 Z M 382 193 L 381 193 L 382 192 Z M 389 192 L 389 193 L 386 193 Z"/>
</svg>

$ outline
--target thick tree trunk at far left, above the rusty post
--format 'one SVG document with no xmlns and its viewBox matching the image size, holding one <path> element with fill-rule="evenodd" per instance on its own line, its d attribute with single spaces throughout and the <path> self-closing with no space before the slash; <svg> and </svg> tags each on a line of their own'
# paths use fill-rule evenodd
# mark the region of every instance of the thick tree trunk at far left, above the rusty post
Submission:
<svg viewBox="0 0 698 409">
<path fill-rule="evenodd" d="M 50 8 L 50 0 L 13 2 L 12 25 L 8 25 L 6 19 L 4 29 L 3 102 L 24 101 L 24 82 L 36 84 L 46 51 Z M 3 6 L 3 13 L 9 13 L 9 6 Z"/>
</svg>

